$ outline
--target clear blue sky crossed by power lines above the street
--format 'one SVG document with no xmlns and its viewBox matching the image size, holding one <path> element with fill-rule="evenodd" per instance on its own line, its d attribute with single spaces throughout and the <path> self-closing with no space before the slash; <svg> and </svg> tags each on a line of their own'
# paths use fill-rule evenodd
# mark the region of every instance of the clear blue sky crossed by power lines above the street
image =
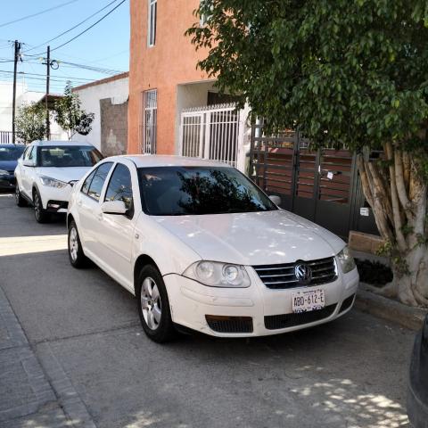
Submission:
<svg viewBox="0 0 428 428">
<path fill-rule="evenodd" d="M 25 82 L 30 89 L 44 92 L 45 80 L 43 76 L 37 76 L 39 74 L 45 76 L 46 67 L 39 60 L 39 57 L 43 56 L 45 52 L 46 45 L 44 43 L 63 31 L 74 27 L 104 6 L 114 2 L 103 12 L 97 13 L 76 29 L 49 43 L 51 49 L 62 45 L 62 43 L 77 36 L 79 32 L 102 18 L 105 13 L 109 12 L 120 1 L 14 0 L 2 2 L 2 13 L 0 14 L 0 80 L 12 81 L 12 73 L 10 71 L 13 70 L 13 50 L 10 41 L 18 39 L 25 44 L 22 46 L 24 62 L 19 63 L 18 70 L 32 73 L 24 77 L 26 79 Z M 62 4 L 64 5 L 62 6 Z M 8 24 L 10 21 L 19 20 L 27 15 L 42 12 L 55 6 L 61 7 L 24 21 Z M 42 46 L 32 49 L 37 45 Z M 28 52 L 26 53 L 26 51 Z M 41 55 L 37 55 L 38 53 L 41 53 Z M 36 56 L 29 56 L 34 54 Z M 54 50 L 51 53 L 51 59 L 60 61 L 59 69 L 51 70 L 52 93 L 62 93 L 67 77 L 70 77 L 74 86 L 78 86 L 87 81 L 110 76 L 110 74 L 82 70 L 61 62 L 72 62 L 108 70 L 127 71 L 129 67 L 129 0 L 126 0 L 114 12 L 111 12 L 93 29 L 90 29 L 70 44 Z M 22 75 L 20 76 L 21 79 Z"/>
</svg>

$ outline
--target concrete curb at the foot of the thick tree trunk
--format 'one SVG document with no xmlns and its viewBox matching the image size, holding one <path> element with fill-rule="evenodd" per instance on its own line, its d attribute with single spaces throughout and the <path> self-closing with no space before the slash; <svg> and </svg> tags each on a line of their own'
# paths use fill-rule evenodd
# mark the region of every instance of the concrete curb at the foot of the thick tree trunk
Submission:
<svg viewBox="0 0 428 428">
<path fill-rule="evenodd" d="M 360 283 L 355 300 L 355 308 L 383 318 L 410 330 L 420 330 L 424 324 L 426 309 L 411 308 L 397 300 L 391 300 L 375 292 L 374 287 L 369 284 Z"/>
</svg>

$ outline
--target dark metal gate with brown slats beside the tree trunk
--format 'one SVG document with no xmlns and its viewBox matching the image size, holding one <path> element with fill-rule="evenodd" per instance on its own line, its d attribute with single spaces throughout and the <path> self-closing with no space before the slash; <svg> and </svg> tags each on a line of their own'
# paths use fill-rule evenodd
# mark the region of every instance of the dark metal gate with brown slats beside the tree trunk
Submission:
<svg viewBox="0 0 428 428">
<path fill-rule="evenodd" d="M 261 125 L 251 130 L 251 178 L 280 196 L 284 209 L 346 238 L 364 204 L 355 155 L 344 149 L 312 150 L 310 141 L 294 131 L 273 137 L 261 132 Z"/>
</svg>

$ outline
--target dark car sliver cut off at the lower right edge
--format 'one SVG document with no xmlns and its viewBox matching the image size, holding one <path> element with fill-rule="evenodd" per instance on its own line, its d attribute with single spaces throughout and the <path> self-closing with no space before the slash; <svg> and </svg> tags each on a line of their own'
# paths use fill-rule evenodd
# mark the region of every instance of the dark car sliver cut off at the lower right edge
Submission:
<svg viewBox="0 0 428 428">
<path fill-rule="evenodd" d="M 410 363 L 407 413 L 415 428 L 428 428 L 428 315 L 416 334 Z"/>
</svg>

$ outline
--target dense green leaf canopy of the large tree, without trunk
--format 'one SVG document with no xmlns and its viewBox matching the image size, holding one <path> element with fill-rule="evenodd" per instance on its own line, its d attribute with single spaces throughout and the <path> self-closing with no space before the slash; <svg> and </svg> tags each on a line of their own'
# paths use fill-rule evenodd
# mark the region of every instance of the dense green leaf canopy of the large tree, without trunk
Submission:
<svg viewBox="0 0 428 428">
<path fill-rule="evenodd" d="M 196 14 L 206 24 L 187 34 L 209 49 L 199 66 L 270 130 L 426 158 L 426 1 L 202 0 Z"/>
</svg>

